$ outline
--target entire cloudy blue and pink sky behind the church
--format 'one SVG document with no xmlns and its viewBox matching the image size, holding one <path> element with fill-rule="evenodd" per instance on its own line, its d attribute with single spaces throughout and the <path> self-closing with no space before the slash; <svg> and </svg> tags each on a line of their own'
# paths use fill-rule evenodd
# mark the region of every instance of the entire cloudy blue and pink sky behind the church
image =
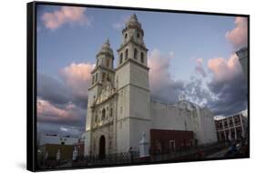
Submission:
<svg viewBox="0 0 256 173">
<path fill-rule="evenodd" d="M 121 30 L 134 13 L 148 47 L 152 99 L 175 103 L 182 93 L 219 116 L 247 107 L 235 55 L 247 46 L 245 17 L 38 5 L 38 132 L 81 134 L 96 54 L 109 37 L 117 62 Z"/>
</svg>

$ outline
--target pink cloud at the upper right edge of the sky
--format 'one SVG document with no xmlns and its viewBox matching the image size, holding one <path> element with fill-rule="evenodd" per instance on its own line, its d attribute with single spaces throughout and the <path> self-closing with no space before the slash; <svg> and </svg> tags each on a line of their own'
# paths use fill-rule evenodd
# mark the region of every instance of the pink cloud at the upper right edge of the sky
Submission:
<svg viewBox="0 0 256 173">
<path fill-rule="evenodd" d="M 239 49 L 242 46 L 247 46 L 248 40 L 248 24 L 246 17 L 236 17 L 235 18 L 235 28 L 226 33 L 226 38 L 234 46 L 234 48 Z"/>
</svg>

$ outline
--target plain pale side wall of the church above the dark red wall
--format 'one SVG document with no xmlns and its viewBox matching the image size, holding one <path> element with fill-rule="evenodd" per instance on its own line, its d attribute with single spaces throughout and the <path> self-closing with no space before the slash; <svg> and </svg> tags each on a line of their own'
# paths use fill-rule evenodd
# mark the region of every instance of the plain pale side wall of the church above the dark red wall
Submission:
<svg viewBox="0 0 256 173">
<path fill-rule="evenodd" d="M 201 108 L 186 100 L 174 105 L 151 101 L 150 114 L 152 128 L 190 130 L 199 144 L 217 142 L 214 118 L 208 108 Z"/>
</svg>

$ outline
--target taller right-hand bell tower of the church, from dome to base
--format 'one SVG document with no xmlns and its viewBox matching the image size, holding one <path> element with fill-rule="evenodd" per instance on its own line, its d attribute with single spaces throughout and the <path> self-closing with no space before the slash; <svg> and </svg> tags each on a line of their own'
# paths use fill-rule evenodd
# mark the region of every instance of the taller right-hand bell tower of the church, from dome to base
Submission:
<svg viewBox="0 0 256 173">
<path fill-rule="evenodd" d="M 141 134 L 149 141 L 150 110 L 148 49 L 137 15 L 131 15 L 122 30 L 115 82 L 118 89 L 118 152 L 138 150 Z"/>
</svg>

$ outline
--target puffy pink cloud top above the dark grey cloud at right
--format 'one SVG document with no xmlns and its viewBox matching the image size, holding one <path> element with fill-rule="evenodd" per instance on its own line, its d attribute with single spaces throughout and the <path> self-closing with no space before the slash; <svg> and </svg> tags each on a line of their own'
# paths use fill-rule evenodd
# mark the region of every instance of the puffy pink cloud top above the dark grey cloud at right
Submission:
<svg viewBox="0 0 256 173">
<path fill-rule="evenodd" d="M 216 81 L 228 81 L 241 73 L 241 65 L 238 56 L 233 54 L 229 59 L 222 57 L 211 58 L 208 67 Z"/>
</svg>

